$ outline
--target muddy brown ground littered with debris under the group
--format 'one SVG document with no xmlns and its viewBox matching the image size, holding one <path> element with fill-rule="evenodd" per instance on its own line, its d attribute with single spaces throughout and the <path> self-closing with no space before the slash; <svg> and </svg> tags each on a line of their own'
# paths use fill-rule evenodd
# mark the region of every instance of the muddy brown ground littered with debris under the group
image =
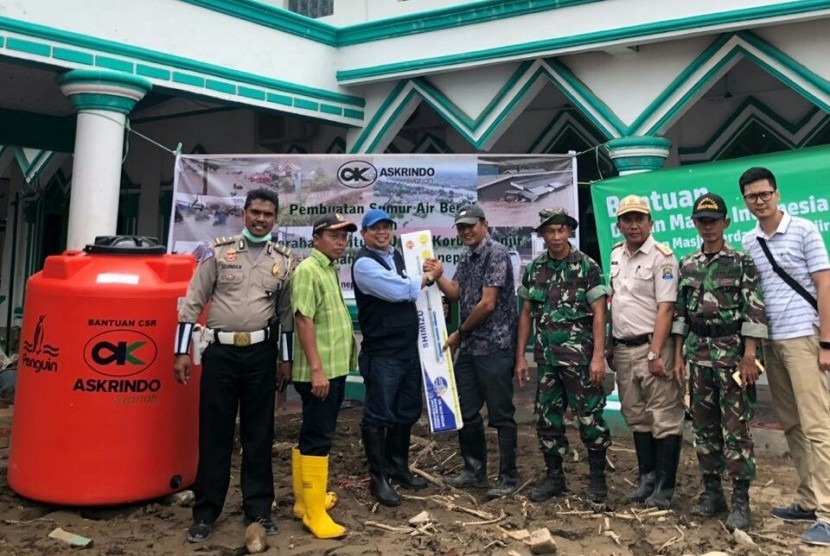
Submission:
<svg viewBox="0 0 830 556">
<path fill-rule="evenodd" d="M 367 488 L 366 463 L 360 443 L 359 407 L 344 408 L 331 456 L 330 488 L 340 497 L 332 516 L 348 527 L 342 541 L 322 541 L 303 530 L 291 518 L 291 446 L 299 422 L 294 415 L 280 415 L 274 445 L 277 487 L 275 517 L 279 535 L 269 539 L 269 554 L 280 555 L 526 555 L 529 548 L 511 538 L 521 529 L 547 527 L 567 556 L 701 555 L 722 551 L 739 555 L 830 554 L 830 549 L 810 548 L 799 541 L 803 524 L 786 524 L 769 517 L 773 504 L 788 504 L 795 488 L 795 473 L 788 460 L 760 458 L 758 477 L 751 489 L 753 520 L 751 538 L 756 546 L 737 544 L 720 519 L 700 520 L 688 511 L 697 495 L 699 476 L 694 452 L 683 451 L 680 484 L 671 512 L 647 512 L 631 507 L 625 495 L 636 475 L 636 459 L 628 438 L 616 438 L 609 451 L 607 505 L 595 507 L 582 499 L 588 467 L 578 434 L 569 432 L 574 453 L 566 463 L 569 493 L 544 503 L 531 503 L 526 494 L 543 473 L 532 426 L 519 431 L 519 471 L 522 488 L 506 499 L 488 501 L 482 490 L 469 492 L 430 485 L 407 492 L 398 508 L 373 503 Z M 435 478 L 454 474 L 461 466 L 454 434 L 433 436 L 425 424 L 414 430 L 411 459 Z M 490 476 L 498 470 L 495 433 L 488 431 Z M 50 507 L 22 499 L 6 484 L 8 450 L 0 450 L 0 554 L 35 555 L 75 552 L 78 549 L 48 537 L 61 527 L 92 539 L 85 554 L 246 554 L 238 488 L 239 458 L 234 459 L 233 480 L 225 511 L 213 537 L 194 545 L 185 541 L 190 509 L 170 499 L 114 508 Z M 426 510 L 432 518 L 416 530 L 411 517 Z M 662 515 L 661 515 L 662 514 Z M 513 533 L 515 534 L 515 533 Z"/>
</svg>

